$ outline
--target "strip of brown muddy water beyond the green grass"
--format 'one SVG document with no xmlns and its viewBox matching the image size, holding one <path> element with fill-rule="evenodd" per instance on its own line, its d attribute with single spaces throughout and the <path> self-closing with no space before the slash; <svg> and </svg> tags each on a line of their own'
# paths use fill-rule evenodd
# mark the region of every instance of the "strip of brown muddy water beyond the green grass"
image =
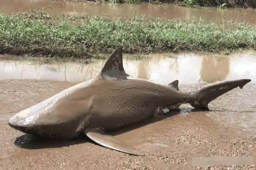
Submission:
<svg viewBox="0 0 256 170">
<path fill-rule="evenodd" d="M 175 5 L 158 6 L 142 4 L 111 3 L 72 3 L 47 0 L 0 0 L 0 13 L 11 14 L 26 12 L 31 9 L 44 8 L 51 14 L 80 14 L 84 16 L 129 17 L 145 15 L 145 17 L 196 18 L 204 21 L 234 21 L 250 24 L 256 23 L 256 10 L 252 9 L 218 9 L 218 8 L 186 8 Z"/>
</svg>

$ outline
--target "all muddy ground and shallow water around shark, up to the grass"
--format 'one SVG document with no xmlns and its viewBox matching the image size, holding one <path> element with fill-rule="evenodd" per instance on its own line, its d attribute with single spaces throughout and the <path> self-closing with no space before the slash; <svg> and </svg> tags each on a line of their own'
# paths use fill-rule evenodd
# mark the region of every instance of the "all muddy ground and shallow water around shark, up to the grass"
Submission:
<svg viewBox="0 0 256 170">
<path fill-rule="evenodd" d="M 26 135 L 7 124 L 10 116 L 50 96 L 96 77 L 104 60 L 88 64 L 2 56 L 0 59 L 0 170 L 82 169 L 255 169 L 249 166 L 190 167 L 193 156 L 256 156 L 256 52 L 221 54 L 154 54 L 143 60 L 125 55 L 132 77 L 167 84 L 180 80 L 181 91 L 192 91 L 221 80 L 250 78 L 239 88 L 209 104 L 210 111 L 181 110 L 111 132 L 145 156 L 130 156 L 94 144 L 86 136 L 49 141 Z"/>
</svg>

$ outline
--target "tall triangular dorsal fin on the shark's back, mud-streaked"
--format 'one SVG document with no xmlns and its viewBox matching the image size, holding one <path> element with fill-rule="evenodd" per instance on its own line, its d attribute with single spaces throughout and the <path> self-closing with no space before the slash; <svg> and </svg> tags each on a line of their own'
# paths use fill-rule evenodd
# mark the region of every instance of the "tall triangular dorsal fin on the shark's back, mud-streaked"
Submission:
<svg viewBox="0 0 256 170">
<path fill-rule="evenodd" d="M 126 79 L 129 75 L 125 73 L 122 63 L 122 47 L 116 48 L 105 62 L 99 77 L 104 79 Z"/>
</svg>

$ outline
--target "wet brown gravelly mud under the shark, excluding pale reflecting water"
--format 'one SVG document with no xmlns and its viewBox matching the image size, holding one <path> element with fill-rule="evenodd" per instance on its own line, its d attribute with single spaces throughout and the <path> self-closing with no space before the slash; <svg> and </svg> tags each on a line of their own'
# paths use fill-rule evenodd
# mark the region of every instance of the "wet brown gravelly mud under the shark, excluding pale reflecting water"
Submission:
<svg viewBox="0 0 256 170">
<path fill-rule="evenodd" d="M 74 83 L 42 80 L 0 81 L 0 170 L 187 170 L 256 169 L 251 166 L 192 167 L 193 156 L 256 156 L 256 84 L 248 83 L 209 104 L 211 111 L 171 111 L 148 122 L 113 132 L 142 150 L 131 156 L 101 147 L 86 136 L 73 140 L 37 139 L 8 125 L 15 113 Z M 190 91 L 198 85 L 180 86 Z M 190 112 L 191 111 L 191 112 Z"/>
</svg>

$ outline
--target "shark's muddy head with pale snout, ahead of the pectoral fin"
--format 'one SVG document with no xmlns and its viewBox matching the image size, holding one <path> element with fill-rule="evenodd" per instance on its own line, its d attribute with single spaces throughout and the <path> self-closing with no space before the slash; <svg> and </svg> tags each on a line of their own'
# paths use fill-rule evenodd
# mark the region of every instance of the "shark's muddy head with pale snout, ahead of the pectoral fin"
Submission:
<svg viewBox="0 0 256 170">
<path fill-rule="evenodd" d="M 89 119 L 86 109 L 90 99 L 78 102 L 77 97 L 81 96 L 74 88 L 62 91 L 15 114 L 9 119 L 9 125 L 38 137 L 71 139 L 83 130 Z"/>
</svg>

